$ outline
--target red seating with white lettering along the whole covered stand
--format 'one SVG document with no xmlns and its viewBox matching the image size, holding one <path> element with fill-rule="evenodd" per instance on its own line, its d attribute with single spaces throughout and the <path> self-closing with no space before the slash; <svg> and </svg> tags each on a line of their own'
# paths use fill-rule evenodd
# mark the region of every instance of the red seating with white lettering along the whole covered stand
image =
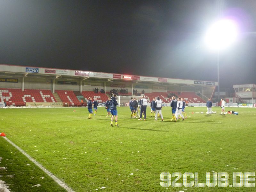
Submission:
<svg viewBox="0 0 256 192">
<path fill-rule="evenodd" d="M 55 91 L 61 101 L 63 103 L 68 103 L 72 106 L 79 106 L 80 100 L 79 96 L 75 94 L 75 91 L 66 91 L 66 90 L 56 90 Z M 177 92 L 177 91 L 168 91 L 168 92 L 152 92 L 152 93 L 145 93 L 146 99 L 150 102 L 155 97 L 160 97 L 164 102 L 169 103 L 171 100 L 168 97 L 168 94 L 174 94 L 178 97 L 183 97 L 185 101 L 189 103 L 204 103 L 202 98 L 196 95 L 195 92 Z M 131 92 L 128 94 L 122 95 L 131 95 Z M 82 91 L 81 95 L 87 101 L 89 97 L 92 97 L 94 100 L 95 98 L 98 99 L 98 102 L 105 102 L 108 99 L 108 95 L 105 93 L 95 93 L 93 91 Z M 82 96 L 80 96 L 82 99 Z M 57 102 L 54 98 L 51 90 L 41 90 L 41 89 L 7 89 L 1 88 L 0 89 L 0 102 L 6 102 L 7 105 L 12 105 L 14 103 L 16 106 L 25 105 L 26 102 Z"/>
</svg>

